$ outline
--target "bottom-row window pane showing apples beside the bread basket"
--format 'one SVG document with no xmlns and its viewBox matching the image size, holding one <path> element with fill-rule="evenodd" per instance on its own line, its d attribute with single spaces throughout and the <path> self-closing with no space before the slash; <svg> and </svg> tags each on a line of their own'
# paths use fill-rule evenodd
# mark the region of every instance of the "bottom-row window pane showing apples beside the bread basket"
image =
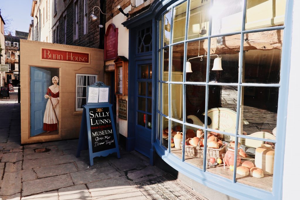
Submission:
<svg viewBox="0 0 300 200">
<path fill-rule="evenodd" d="M 224 138 L 227 142 L 224 142 Z M 230 180 L 233 180 L 235 157 L 234 143 L 232 143 L 232 140 L 234 140 L 232 136 L 209 132 L 206 150 L 206 170 Z M 233 147 L 231 145 L 233 145 Z M 237 163 L 239 163 L 240 160 L 238 157 Z"/>
</svg>

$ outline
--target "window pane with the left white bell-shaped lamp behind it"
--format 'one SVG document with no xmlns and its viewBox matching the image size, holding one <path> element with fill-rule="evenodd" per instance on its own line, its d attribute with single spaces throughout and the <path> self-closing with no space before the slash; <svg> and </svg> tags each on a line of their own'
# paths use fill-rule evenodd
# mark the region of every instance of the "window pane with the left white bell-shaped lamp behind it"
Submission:
<svg viewBox="0 0 300 200">
<path fill-rule="evenodd" d="M 192 72 L 186 73 L 186 81 L 206 82 L 207 57 L 195 57 L 207 55 L 207 45 L 207 39 L 187 43 L 187 61 L 190 62 Z"/>
</svg>

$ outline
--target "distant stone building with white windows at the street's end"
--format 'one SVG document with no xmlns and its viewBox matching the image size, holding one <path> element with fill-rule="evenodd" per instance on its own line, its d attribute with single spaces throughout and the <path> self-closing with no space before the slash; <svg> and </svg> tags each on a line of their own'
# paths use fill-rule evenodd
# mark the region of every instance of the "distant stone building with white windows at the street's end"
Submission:
<svg viewBox="0 0 300 200">
<path fill-rule="evenodd" d="M 8 64 L 9 69 L 9 72 L 6 72 L 6 82 L 11 79 L 13 85 L 17 85 L 19 80 L 20 39 L 27 40 L 29 33 L 16 31 L 15 35 L 5 35 L 5 64 Z"/>
</svg>

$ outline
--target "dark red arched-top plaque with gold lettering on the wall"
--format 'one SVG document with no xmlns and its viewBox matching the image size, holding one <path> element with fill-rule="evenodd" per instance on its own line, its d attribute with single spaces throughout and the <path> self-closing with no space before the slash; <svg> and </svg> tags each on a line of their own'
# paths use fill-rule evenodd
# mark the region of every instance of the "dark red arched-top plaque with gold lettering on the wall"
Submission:
<svg viewBox="0 0 300 200">
<path fill-rule="evenodd" d="M 110 24 L 104 37 L 104 61 L 113 60 L 118 56 L 118 28 Z"/>
</svg>

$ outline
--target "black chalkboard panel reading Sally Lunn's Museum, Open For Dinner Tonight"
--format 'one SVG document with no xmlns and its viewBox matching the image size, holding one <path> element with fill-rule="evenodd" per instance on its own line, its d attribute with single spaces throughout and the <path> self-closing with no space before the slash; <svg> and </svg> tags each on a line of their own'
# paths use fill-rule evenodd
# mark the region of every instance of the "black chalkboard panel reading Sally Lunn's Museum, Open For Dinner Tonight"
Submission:
<svg viewBox="0 0 300 200">
<path fill-rule="evenodd" d="M 116 148 L 109 107 L 89 108 L 92 152 Z"/>
</svg>

